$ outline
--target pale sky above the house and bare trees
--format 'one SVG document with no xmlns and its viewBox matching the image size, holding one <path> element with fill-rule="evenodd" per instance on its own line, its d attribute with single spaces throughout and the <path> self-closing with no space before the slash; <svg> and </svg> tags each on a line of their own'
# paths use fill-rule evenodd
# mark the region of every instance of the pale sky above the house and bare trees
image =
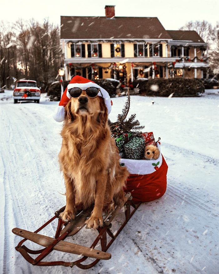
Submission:
<svg viewBox="0 0 219 274">
<path fill-rule="evenodd" d="M 35 18 L 60 24 L 60 16 L 105 16 L 105 5 L 115 5 L 115 16 L 157 17 L 164 28 L 178 29 L 188 21 L 219 20 L 218 0 L 0 0 L 0 20 Z"/>
</svg>

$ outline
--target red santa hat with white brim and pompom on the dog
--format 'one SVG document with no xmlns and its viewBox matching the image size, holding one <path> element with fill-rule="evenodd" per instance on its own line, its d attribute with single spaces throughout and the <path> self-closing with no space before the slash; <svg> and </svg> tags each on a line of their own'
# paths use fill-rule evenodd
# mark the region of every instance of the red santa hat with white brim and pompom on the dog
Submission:
<svg viewBox="0 0 219 274">
<path fill-rule="evenodd" d="M 108 114 L 109 114 L 111 111 L 111 107 L 112 107 L 112 101 L 110 99 L 109 93 L 106 90 L 104 90 L 104 88 L 97 85 L 93 81 L 77 75 L 72 78 L 72 80 L 69 82 L 67 88 L 65 89 L 65 91 L 62 95 L 62 98 L 59 102 L 59 106 L 57 107 L 55 113 L 53 114 L 53 118 L 55 119 L 55 121 L 57 121 L 57 122 L 64 121 L 65 106 L 68 104 L 69 100 L 71 99 L 71 96 L 69 94 L 69 89 L 71 89 L 73 87 L 79 87 L 81 89 L 86 89 L 91 86 L 99 88 L 101 90 L 101 92 L 99 91 L 98 96 L 102 97 L 102 95 L 103 95 L 104 102 L 105 102 L 105 105 L 107 107 Z"/>
</svg>

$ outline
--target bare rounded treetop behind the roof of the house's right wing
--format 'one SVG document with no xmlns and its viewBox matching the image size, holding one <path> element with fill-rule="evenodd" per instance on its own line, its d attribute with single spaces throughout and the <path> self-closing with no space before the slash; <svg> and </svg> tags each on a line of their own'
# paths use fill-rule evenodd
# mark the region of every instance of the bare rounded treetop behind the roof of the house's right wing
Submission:
<svg viewBox="0 0 219 274">
<path fill-rule="evenodd" d="M 195 30 L 206 43 L 210 42 L 214 36 L 214 28 L 205 20 L 189 21 L 179 30 Z"/>
</svg>

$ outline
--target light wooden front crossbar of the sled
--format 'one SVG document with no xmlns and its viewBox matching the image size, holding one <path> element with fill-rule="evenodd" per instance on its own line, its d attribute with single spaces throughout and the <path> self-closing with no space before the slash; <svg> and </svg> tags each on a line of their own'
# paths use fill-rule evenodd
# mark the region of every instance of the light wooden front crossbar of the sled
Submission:
<svg viewBox="0 0 219 274">
<path fill-rule="evenodd" d="M 37 234 L 34 232 L 30 232 L 27 230 L 23 230 L 20 228 L 14 228 L 12 230 L 12 232 L 18 236 L 21 236 L 25 239 L 31 240 L 34 243 L 37 243 L 41 246 L 49 246 L 53 243 L 53 241 L 55 240 L 54 238 L 48 237 L 48 236 L 44 236 L 41 234 Z M 95 259 L 100 259 L 100 260 L 109 260 L 111 258 L 111 254 L 107 253 L 107 252 L 103 252 L 100 250 L 96 250 L 96 249 L 91 249 L 89 247 L 85 247 L 85 246 L 80 246 L 80 245 L 76 245 L 73 243 L 69 243 L 63 240 L 60 240 L 54 247 L 54 250 L 58 250 L 58 251 L 63 251 L 63 252 L 68 252 L 68 253 L 73 253 L 73 254 L 77 254 L 77 255 L 82 255 L 82 256 L 86 256 L 86 257 L 91 257 L 91 258 L 95 258 Z"/>
</svg>

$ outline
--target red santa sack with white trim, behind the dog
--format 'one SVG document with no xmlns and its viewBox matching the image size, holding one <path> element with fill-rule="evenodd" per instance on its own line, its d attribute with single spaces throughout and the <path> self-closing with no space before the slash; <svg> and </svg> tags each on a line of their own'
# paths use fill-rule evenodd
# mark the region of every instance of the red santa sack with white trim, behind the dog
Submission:
<svg viewBox="0 0 219 274">
<path fill-rule="evenodd" d="M 160 150 L 159 142 L 157 147 Z M 134 203 L 153 201 L 166 192 L 168 166 L 161 150 L 157 160 L 120 159 L 120 164 L 130 172 L 124 191 L 131 193 Z"/>
</svg>

